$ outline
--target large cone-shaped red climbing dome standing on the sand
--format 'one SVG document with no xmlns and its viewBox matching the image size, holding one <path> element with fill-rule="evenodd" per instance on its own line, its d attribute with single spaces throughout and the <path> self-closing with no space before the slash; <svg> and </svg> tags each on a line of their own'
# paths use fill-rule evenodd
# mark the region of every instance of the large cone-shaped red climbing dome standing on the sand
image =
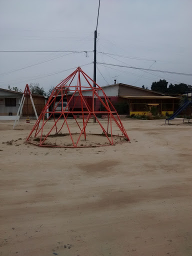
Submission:
<svg viewBox="0 0 192 256">
<path fill-rule="evenodd" d="M 93 83 L 93 86 L 90 82 Z M 89 93 L 91 96 L 85 98 L 82 91 Z M 59 100 L 57 99 L 57 96 L 60 97 Z M 99 110 L 95 109 L 94 102 L 96 99 L 100 104 Z M 63 102 L 66 102 L 66 104 L 63 104 Z M 78 104 L 80 108 L 76 108 L 76 105 Z M 51 111 L 49 111 L 49 109 L 51 109 Z M 46 119 L 47 113 L 49 116 Z M 98 119 L 98 114 L 106 115 L 107 122 L 105 121 L 104 124 L 101 124 L 101 120 Z M 68 115 L 71 115 L 75 120 L 79 133 L 72 132 L 72 130 L 74 130 L 74 123 L 71 127 L 71 123 L 68 121 L 70 119 L 67 119 Z M 81 116 L 82 119 L 77 121 L 77 115 Z M 87 132 L 87 125 L 90 117 L 95 117 L 96 124 L 99 124 L 98 126 L 101 133 L 90 133 L 90 130 Z M 52 122 L 48 122 L 50 118 L 53 118 L 53 124 Z M 40 121 L 42 121 L 41 127 L 39 126 Z M 48 126 L 48 123 L 51 123 L 51 126 Z M 113 123 L 118 128 L 120 135 L 114 135 L 112 133 Z M 65 126 L 67 133 L 61 132 L 63 126 Z M 97 143 L 97 141 L 95 141 L 95 144 L 93 144 L 92 141 L 91 144 L 85 143 L 84 141 L 86 141 L 90 134 L 94 135 L 94 139 L 95 135 L 100 135 L 102 138 L 104 136 L 108 144 L 106 142 L 103 144 Z M 81 136 L 84 138 L 83 140 L 80 140 L 80 138 L 82 138 Z M 50 138 L 52 137 L 55 139 L 57 137 L 57 142 L 59 142 L 59 145 L 56 143 L 56 141 L 50 141 Z M 119 138 L 120 142 L 129 140 L 114 106 L 104 93 L 103 89 L 97 83 L 95 83 L 80 67 L 77 67 L 75 71 L 73 71 L 56 87 L 54 87 L 26 141 L 39 146 L 91 147 L 113 145 L 114 142 L 116 143 L 116 137 Z M 63 142 L 61 143 L 62 139 Z M 91 138 L 91 140 L 93 140 L 93 138 Z"/>
</svg>

